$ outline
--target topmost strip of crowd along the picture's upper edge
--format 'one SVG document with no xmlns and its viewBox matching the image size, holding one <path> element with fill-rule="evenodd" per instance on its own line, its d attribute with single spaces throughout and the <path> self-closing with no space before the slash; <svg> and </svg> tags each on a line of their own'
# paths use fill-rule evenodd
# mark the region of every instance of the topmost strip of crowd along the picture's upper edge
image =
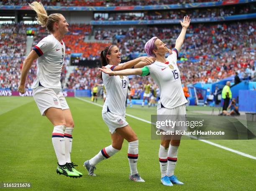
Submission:
<svg viewBox="0 0 256 191">
<path fill-rule="evenodd" d="M 2 0 L 2 5 L 28 5 L 34 0 Z M 39 0 L 38 0 L 39 1 Z M 202 3 L 218 0 L 40 0 L 47 6 L 134 6 Z"/>
</svg>

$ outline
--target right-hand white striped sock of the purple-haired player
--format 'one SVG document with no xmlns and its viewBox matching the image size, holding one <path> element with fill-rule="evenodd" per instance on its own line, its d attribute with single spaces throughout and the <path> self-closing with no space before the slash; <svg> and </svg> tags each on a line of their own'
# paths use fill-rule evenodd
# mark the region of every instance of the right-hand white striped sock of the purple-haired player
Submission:
<svg viewBox="0 0 256 191">
<path fill-rule="evenodd" d="M 167 176 L 174 175 L 174 168 L 177 163 L 177 154 L 179 146 L 170 145 L 168 150 L 168 166 L 167 166 Z"/>
</svg>

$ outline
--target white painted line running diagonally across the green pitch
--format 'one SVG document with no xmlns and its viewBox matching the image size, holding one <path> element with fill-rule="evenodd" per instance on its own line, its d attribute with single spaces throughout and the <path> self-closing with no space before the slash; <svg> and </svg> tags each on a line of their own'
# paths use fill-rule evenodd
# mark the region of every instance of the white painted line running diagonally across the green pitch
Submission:
<svg viewBox="0 0 256 191">
<path fill-rule="evenodd" d="M 87 102 L 87 103 L 91 103 L 91 104 L 93 104 L 93 105 L 95 105 L 95 106 L 103 107 L 103 106 L 100 105 L 100 104 L 93 103 L 93 102 L 91 102 L 91 101 L 87 101 L 87 100 L 82 99 L 82 98 L 79 98 L 79 97 L 75 97 L 75 98 L 77 98 L 77 99 L 79 99 L 79 100 L 81 100 L 81 101 L 85 101 L 85 102 Z M 130 114 L 128 114 L 128 113 L 125 113 L 125 115 L 126 115 L 126 116 L 129 116 L 129 117 L 132 117 L 132 118 L 135 118 L 135 119 L 138 119 L 138 120 L 143 121 L 143 122 L 145 122 L 145 123 L 151 124 L 150 121 L 147 121 L 147 120 L 142 119 L 142 118 L 138 118 L 138 117 L 133 116 L 133 115 L 130 115 Z M 228 148 L 228 147 L 225 147 L 225 146 L 222 146 L 222 145 L 213 143 L 213 142 L 211 142 L 211 141 L 206 141 L 206 140 L 203 140 L 203 139 L 199 139 L 198 141 L 202 141 L 202 142 L 204 142 L 204 143 L 208 143 L 208 144 L 210 144 L 210 145 L 217 146 L 217 147 L 219 147 L 219 148 L 222 148 L 222 149 L 225 149 L 225 150 L 227 150 L 227 151 L 236 153 L 236 154 L 238 154 L 238 155 L 245 156 L 245 157 L 248 157 L 248 158 L 251 158 L 251 159 L 256 160 L 256 157 L 255 157 L 255 156 L 251 156 L 251 155 L 249 155 L 249 154 L 246 154 L 246 153 L 243 153 L 243 152 L 240 152 L 240 151 L 236 151 L 236 150 L 234 150 L 234 149 L 232 149 L 232 148 Z"/>
</svg>

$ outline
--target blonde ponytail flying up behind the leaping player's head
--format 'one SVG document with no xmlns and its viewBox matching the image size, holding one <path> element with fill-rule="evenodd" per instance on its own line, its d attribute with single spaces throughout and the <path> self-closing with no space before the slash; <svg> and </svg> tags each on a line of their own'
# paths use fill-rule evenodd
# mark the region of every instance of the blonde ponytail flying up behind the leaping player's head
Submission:
<svg viewBox="0 0 256 191">
<path fill-rule="evenodd" d="M 44 6 L 41 2 L 34 1 L 33 3 L 28 3 L 28 5 L 36 11 L 36 20 L 38 21 L 39 25 L 42 25 L 42 27 L 46 27 L 46 23 L 48 20 L 48 15 L 46 13 L 46 10 L 44 9 Z"/>
</svg>

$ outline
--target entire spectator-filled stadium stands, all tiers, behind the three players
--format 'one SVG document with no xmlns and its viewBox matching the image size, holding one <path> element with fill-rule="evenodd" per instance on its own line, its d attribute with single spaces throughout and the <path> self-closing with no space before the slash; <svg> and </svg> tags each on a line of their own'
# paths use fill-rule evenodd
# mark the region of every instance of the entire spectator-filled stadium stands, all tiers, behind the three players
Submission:
<svg viewBox="0 0 256 191">
<path fill-rule="evenodd" d="M 27 5 L 22 0 L 3 0 L 2 5 Z M 44 5 L 56 6 L 129 6 L 129 5 L 164 5 L 186 3 L 214 2 L 210 0 L 144 0 L 144 1 L 41 1 Z M 192 18 L 215 18 L 230 15 L 249 14 L 253 6 L 249 3 L 227 5 L 222 7 L 173 9 L 173 10 L 127 10 L 113 11 L 108 17 L 101 17 L 100 12 L 94 12 L 91 19 L 95 20 L 172 20 L 191 15 Z M 238 9 L 239 8 L 239 9 Z M 161 12 L 159 14 L 159 11 Z M 96 14 L 97 13 L 97 14 Z M 138 14 L 140 13 L 140 15 Z M 102 12 L 103 14 L 103 12 Z M 69 21 L 68 21 L 69 22 Z M 94 83 L 101 83 L 97 78 L 96 68 L 76 66 L 71 70 L 68 78 L 67 65 L 79 64 L 80 60 L 100 60 L 100 51 L 109 44 L 117 44 L 122 52 L 122 60 L 130 60 L 144 53 L 144 44 L 153 37 L 158 36 L 169 48 L 174 48 L 175 40 L 180 33 L 180 25 L 125 25 L 121 28 L 108 25 L 90 25 L 84 23 L 69 23 L 69 33 L 65 36 L 66 57 L 61 75 L 62 87 L 66 89 L 90 89 Z M 179 66 L 182 68 L 182 83 L 214 83 L 240 73 L 242 79 L 255 77 L 255 25 L 252 20 L 241 22 L 215 22 L 192 23 L 187 30 L 187 36 L 181 52 L 179 53 Z M 1 88 L 17 89 L 20 78 L 20 69 L 26 56 L 26 28 L 36 28 L 33 45 L 36 45 L 48 33 L 40 25 L 25 25 L 23 21 L 16 24 L 1 25 L 0 68 Z M 11 38 L 9 38 L 11 36 Z M 70 62 L 72 54 L 81 54 L 74 62 Z M 30 70 L 27 88 L 30 88 L 36 75 L 36 63 Z M 131 78 L 131 86 L 135 94 L 143 91 L 143 82 L 146 77 Z M 155 86 L 155 84 L 152 84 Z M 136 96 L 135 96 L 136 97 Z M 139 97 L 139 96 L 138 96 Z"/>
</svg>

